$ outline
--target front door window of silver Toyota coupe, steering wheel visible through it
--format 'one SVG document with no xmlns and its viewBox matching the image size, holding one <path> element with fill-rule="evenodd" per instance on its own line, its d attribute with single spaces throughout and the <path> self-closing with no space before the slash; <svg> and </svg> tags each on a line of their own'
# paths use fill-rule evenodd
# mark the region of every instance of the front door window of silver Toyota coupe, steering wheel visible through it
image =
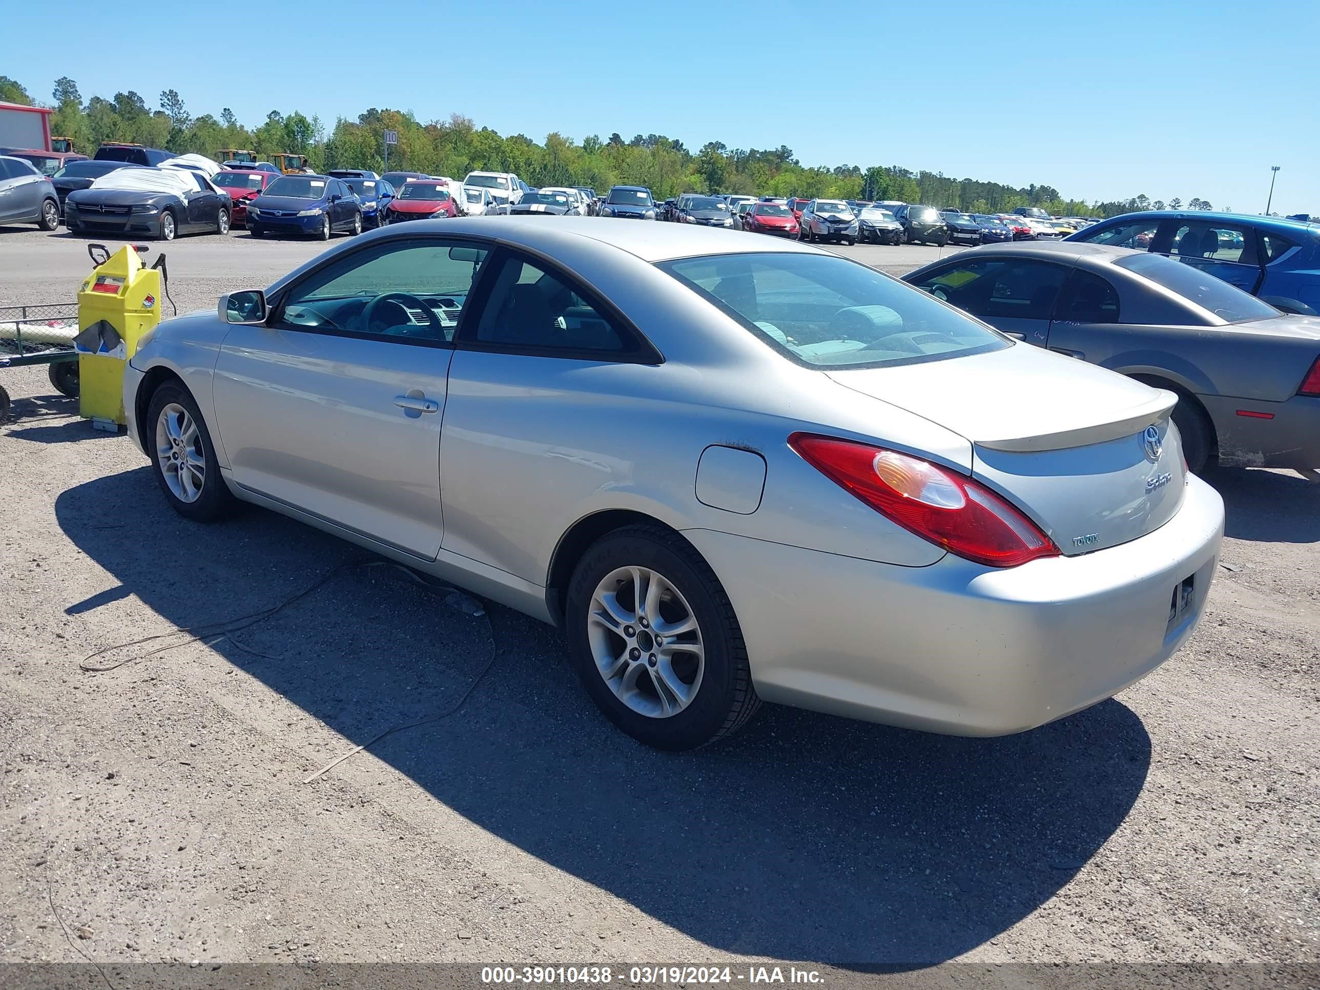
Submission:
<svg viewBox="0 0 1320 990">
<path fill-rule="evenodd" d="M 484 246 L 437 238 L 391 239 L 354 251 L 294 285 L 276 325 L 446 346 L 487 255 Z"/>
</svg>

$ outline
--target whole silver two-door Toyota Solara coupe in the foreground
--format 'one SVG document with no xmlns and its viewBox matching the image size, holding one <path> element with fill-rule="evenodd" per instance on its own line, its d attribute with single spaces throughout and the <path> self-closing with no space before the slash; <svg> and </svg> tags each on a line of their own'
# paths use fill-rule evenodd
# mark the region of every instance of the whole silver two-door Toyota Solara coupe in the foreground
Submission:
<svg viewBox="0 0 1320 990">
<path fill-rule="evenodd" d="M 760 700 L 1060 718 L 1187 640 L 1222 539 L 1172 393 L 696 226 L 388 227 L 162 323 L 124 389 L 183 516 L 265 506 L 561 624 L 665 748 Z"/>
</svg>

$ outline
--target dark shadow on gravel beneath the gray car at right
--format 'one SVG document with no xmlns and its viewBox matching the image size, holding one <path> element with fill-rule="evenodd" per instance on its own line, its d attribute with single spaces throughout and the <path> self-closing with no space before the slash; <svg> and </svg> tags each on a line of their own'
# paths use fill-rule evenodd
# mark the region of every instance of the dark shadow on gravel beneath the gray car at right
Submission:
<svg viewBox="0 0 1320 990">
<path fill-rule="evenodd" d="M 1320 543 L 1320 484 L 1292 471 L 1221 469 L 1224 535 L 1261 543 Z"/>
</svg>

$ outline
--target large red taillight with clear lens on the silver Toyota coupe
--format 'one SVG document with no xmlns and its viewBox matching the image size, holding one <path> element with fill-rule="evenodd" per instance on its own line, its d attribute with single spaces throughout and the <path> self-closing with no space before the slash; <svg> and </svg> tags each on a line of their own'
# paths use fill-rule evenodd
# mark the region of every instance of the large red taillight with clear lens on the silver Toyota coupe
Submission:
<svg viewBox="0 0 1320 990">
<path fill-rule="evenodd" d="M 850 440 L 795 433 L 788 445 L 876 512 L 960 557 L 1015 568 L 1059 556 L 1035 523 L 961 474 Z"/>
</svg>

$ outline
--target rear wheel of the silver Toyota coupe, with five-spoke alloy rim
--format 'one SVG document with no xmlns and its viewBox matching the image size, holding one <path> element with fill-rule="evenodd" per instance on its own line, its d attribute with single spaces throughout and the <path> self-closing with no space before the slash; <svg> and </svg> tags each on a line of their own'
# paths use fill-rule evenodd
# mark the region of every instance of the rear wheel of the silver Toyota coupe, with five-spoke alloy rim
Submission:
<svg viewBox="0 0 1320 990">
<path fill-rule="evenodd" d="M 649 590 L 636 594 L 642 585 Z M 661 750 L 694 750 L 760 705 L 719 579 L 681 536 L 632 525 L 597 540 L 569 581 L 569 651 L 606 718 Z"/>
</svg>

